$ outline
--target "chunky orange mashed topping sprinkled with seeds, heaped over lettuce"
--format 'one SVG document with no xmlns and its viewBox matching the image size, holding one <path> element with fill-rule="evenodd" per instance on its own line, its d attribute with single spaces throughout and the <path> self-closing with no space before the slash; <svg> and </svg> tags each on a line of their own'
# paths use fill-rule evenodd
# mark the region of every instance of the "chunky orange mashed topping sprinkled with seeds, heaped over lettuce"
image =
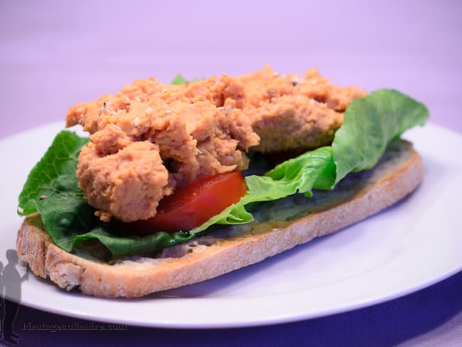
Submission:
<svg viewBox="0 0 462 347">
<path fill-rule="evenodd" d="M 151 218 L 176 188 L 246 169 L 249 149 L 329 144 L 346 107 L 363 95 L 332 85 L 316 69 L 301 77 L 266 66 L 185 85 L 135 80 L 68 111 L 67 126 L 81 124 L 91 134 L 79 157 L 79 186 L 102 220 Z"/>
</svg>

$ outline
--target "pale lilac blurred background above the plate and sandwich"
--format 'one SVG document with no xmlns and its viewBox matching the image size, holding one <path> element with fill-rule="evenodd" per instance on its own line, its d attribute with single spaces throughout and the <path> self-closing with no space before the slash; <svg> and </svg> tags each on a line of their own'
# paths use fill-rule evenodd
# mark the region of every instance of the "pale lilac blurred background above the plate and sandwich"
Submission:
<svg viewBox="0 0 462 347">
<path fill-rule="evenodd" d="M 448 0 L 2 0 L 0 136 L 63 119 L 135 78 L 239 75 L 264 63 L 396 88 L 462 132 L 461 15 Z"/>
</svg>

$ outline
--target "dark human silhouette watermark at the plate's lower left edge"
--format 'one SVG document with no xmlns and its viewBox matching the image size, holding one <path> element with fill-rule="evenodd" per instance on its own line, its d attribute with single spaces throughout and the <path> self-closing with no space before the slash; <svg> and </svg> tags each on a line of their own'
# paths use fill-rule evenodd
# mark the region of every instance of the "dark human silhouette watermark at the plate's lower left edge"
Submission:
<svg viewBox="0 0 462 347">
<path fill-rule="evenodd" d="M 0 269 L 0 341 L 16 345 L 19 335 L 14 332 L 14 320 L 18 314 L 19 301 L 21 301 L 21 283 L 28 278 L 28 272 L 21 277 L 16 269 L 18 264 L 18 255 L 16 250 L 6 250 L 6 259 L 8 264 Z M 3 264 L 2 264 L 3 267 Z M 15 301 L 6 299 L 14 297 Z"/>
</svg>

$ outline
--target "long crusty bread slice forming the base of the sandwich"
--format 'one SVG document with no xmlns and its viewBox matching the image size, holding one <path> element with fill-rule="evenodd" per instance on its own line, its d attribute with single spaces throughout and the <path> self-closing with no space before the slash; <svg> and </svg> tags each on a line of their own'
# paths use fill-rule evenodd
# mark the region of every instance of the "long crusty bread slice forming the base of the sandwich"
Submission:
<svg viewBox="0 0 462 347">
<path fill-rule="evenodd" d="M 414 191 L 423 178 L 419 154 L 399 140 L 374 169 L 353 173 L 333 191 L 315 191 L 265 203 L 255 221 L 219 230 L 157 255 L 105 263 L 53 245 L 39 215 L 18 231 L 18 257 L 34 274 L 63 289 L 97 297 L 141 297 L 181 287 L 260 262 L 373 215 Z"/>
</svg>

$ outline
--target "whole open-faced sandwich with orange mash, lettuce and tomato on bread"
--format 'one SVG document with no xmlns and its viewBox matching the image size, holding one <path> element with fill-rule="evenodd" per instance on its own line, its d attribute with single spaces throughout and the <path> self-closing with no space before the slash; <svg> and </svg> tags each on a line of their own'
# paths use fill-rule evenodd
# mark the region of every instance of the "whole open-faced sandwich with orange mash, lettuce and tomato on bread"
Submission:
<svg viewBox="0 0 462 347">
<path fill-rule="evenodd" d="M 251 265 L 399 201 L 423 178 L 399 139 L 428 111 L 269 67 L 173 84 L 135 80 L 72 107 L 19 196 L 34 274 L 141 297 Z"/>
</svg>

